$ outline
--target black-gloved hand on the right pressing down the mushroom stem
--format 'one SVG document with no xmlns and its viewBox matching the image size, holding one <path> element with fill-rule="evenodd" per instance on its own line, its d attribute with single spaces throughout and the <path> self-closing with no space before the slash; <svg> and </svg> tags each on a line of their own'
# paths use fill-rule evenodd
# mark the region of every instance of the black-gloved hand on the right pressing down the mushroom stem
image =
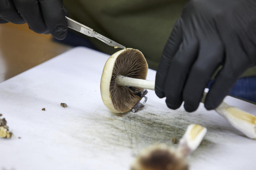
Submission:
<svg viewBox="0 0 256 170">
<path fill-rule="evenodd" d="M 191 0 L 165 45 L 155 93 L 177 109 L 195 111 L 214 71 L 205 100 L 215 109 L 242 73 L 256 61 L 255 0 Z"/>
</svg>

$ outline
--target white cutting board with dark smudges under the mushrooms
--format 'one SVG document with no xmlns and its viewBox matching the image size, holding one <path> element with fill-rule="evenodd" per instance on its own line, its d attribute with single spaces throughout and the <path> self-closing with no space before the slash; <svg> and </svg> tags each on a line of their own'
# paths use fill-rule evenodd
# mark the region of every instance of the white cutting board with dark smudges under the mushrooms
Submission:
<svg viewBox="0 0 256 170">
<path fill-rule="evenodd" d="M 138 112 L 110 112 L 100 94 L 108 57 L 77 47 L 0 83 L 0 113 L 14 134 L 0 139 L 0 169 L 129 169 L 139 150 L 174 145 L 171 139 L 181 138 L 191 123 L 208 132 L 188 158 L 190 169 L 256 169 L 256 141 L 202 104 L 193 113 L 174 111 L 149 90 Z M 155 79 L 155 71 L 149 70 L 148 79 Z M 225 101 L 256 114 L 253 104 Z"/>
</svg>

